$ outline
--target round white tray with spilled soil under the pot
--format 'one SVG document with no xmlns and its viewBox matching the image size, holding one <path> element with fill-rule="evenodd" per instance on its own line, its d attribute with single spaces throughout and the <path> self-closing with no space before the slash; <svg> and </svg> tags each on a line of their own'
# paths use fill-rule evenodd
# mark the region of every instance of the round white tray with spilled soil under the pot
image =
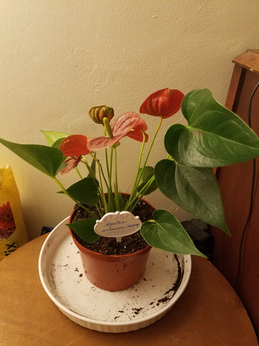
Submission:
<svg viewBox="0 0 259 346">
<path fill-rule="evenodd" d="M 84 274 L 66 223 L 68 218 L 45 240 L 39 274 L 50 299 L 72 321 L 107 333 L 136 330 L 164 316 L 183 293 L 191 274 L 191 256 L 154 248 L 140 282 L 118 292 L 97 288 Z"/>
</svg>

